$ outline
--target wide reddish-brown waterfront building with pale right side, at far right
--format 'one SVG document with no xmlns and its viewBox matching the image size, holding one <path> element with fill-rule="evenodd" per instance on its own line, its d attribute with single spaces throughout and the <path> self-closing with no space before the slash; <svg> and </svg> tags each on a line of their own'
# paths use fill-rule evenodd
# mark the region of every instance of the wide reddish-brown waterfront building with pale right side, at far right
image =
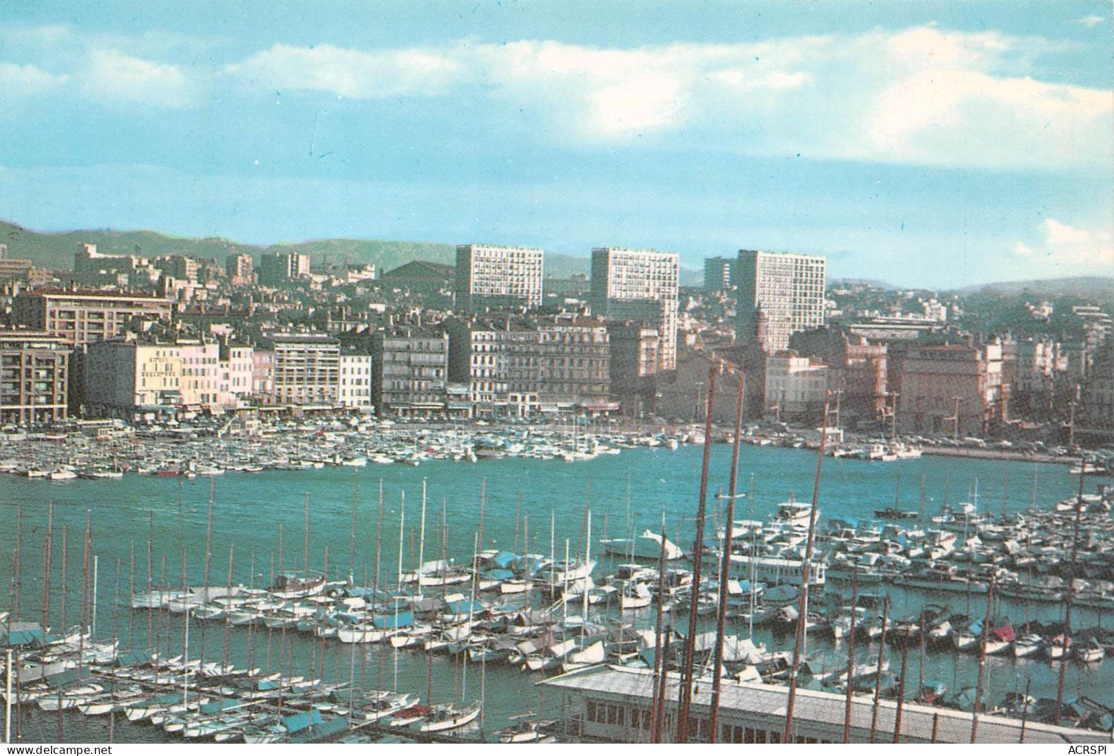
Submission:
<svg viewBox="0 0 1114 756">
<path fill-rule="evenodd" d="M 1005 420 L 1001 344 L 910 346 L 900 363 L 897 424 L 903 433 L 986 435 Z"/>
</svg>

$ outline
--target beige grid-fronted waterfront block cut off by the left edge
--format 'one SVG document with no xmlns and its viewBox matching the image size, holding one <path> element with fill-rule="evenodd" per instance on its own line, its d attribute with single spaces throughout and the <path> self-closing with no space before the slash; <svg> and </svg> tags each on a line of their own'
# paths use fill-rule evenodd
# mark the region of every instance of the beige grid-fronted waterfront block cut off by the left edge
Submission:
<svg viewBox="0 0 1114 756">
<path fill-rule="evenodd" d="M 71 354 L 41 331 L 0 331 L 0 424 L 66 420 Z"/>
</svg>

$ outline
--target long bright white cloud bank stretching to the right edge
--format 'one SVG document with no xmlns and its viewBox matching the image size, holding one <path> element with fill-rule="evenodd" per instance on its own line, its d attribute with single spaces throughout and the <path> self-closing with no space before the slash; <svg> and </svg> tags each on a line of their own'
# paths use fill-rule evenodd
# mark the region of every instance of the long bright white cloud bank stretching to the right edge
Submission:
<svg viewBox="0 0 1114 756">
<path fill-rule="evenodd" d="M 1112 159 L 1110 90 L 1032 75 L 1058 43 L 935 26 L 740 45 L 551 40 L 359 51 L 277 45 L 226 72 L 349 98 L 455 96 L 548 138 L 675 137 L 753 155 L 996 169 Z"/>
</svg>

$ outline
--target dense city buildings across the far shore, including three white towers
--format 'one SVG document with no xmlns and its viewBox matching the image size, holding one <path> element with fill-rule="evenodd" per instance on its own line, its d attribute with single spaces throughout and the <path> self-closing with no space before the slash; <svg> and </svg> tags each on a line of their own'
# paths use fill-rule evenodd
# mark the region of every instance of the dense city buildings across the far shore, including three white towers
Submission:
<svg viewBox="0 0 1114 756">
<path fill-rule="evenodd" d="M 814 426 L 837 392 L 850 432 L 1075 453 L 1114 431 L 1108 305 L 1039 284 L 902 291 L 830 281 L 822 256 L 747 249 L 707 258 L 703 286 L 681 285 L 675 254 L 614 247 L 570 278 L 547 277 L 540 249 L 491 245 L 389 271 L 90 244 L 72 269 L 46 271 L 0 252 L 7 426 L 291 413 L 683 424 L 700 419 L 715 360 L 744 376 L 747 421 Z"/>
</svg>

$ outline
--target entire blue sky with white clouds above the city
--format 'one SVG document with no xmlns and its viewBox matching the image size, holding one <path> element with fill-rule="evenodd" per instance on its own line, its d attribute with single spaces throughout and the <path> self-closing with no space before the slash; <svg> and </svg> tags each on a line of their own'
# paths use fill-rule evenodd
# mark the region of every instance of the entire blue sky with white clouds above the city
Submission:
<svg viewBox="0 0 1114 756">
<path fill-rule="evenodd" d="M 1114 275 L 1111 11 L 6 0 L 0 218 Z"/>
</svg>

